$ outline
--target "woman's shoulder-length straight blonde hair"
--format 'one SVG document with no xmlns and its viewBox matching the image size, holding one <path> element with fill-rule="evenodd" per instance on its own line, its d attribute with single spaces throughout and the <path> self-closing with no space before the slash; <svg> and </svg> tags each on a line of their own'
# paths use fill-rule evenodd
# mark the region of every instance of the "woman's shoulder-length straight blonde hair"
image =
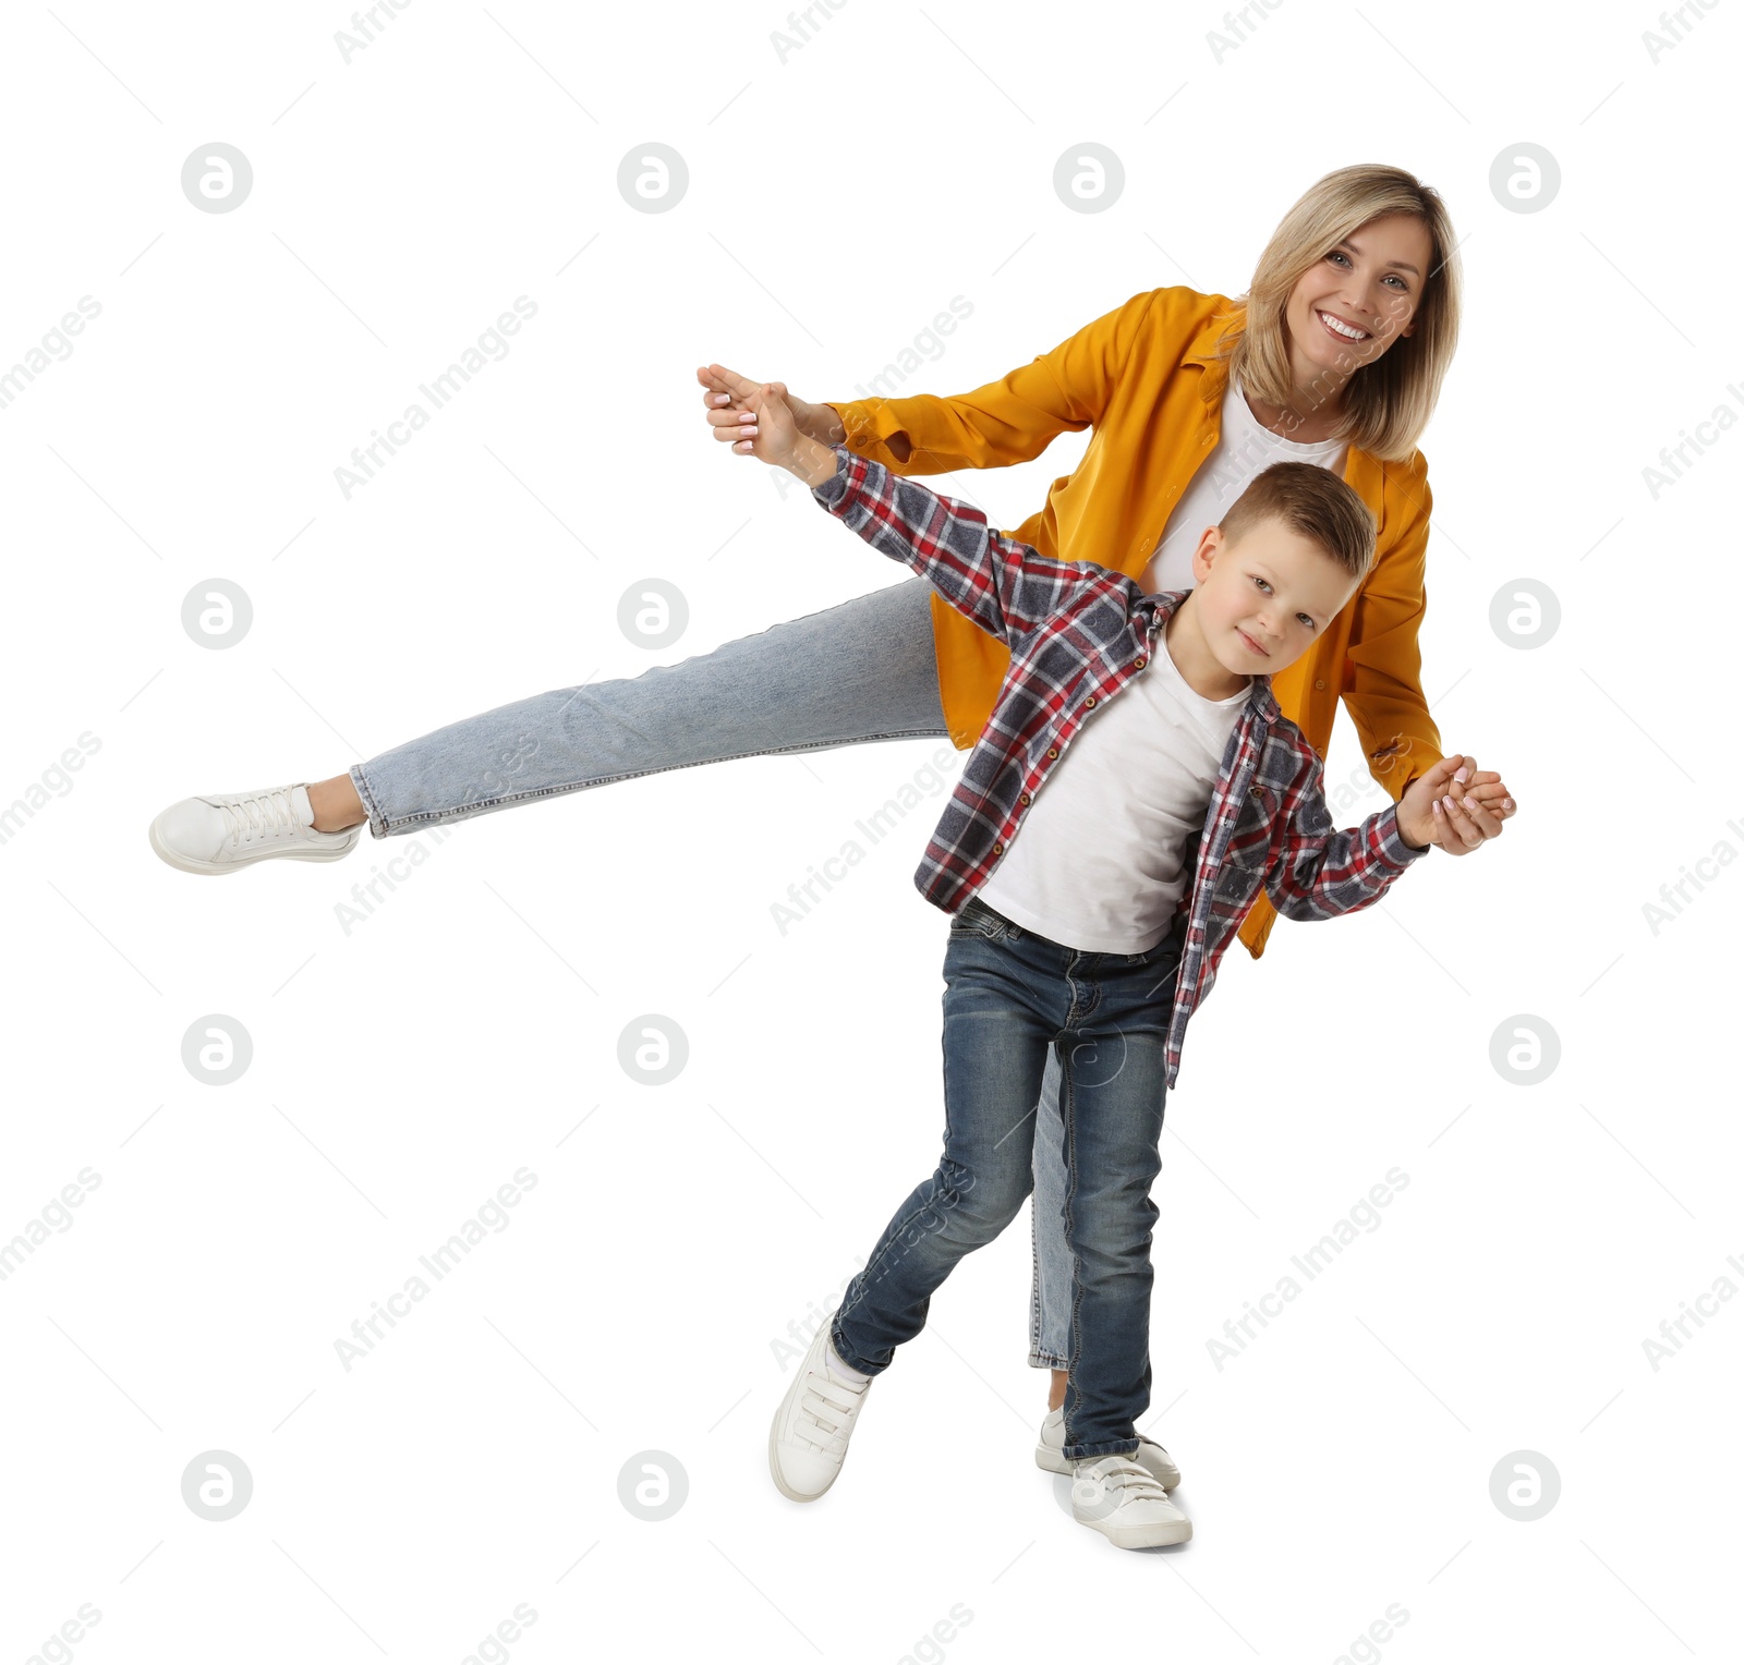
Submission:
<svg viewBox="0 0 1744 1665">
<path fill-rule="evenodd" d="M 1345 384 L 1336 438 L 1383 462 L 1409 462 L 1435 411 L 1442 377 L 1460 338 L 1460 249 L 1448 206 L 1432 185 L 1402 167 L 1359 162 L 1317 180 L 1278 221 L 1261 251 L 1243 310 L 1217 342 L 1230 375 L 1268 404 L 1291 406 L 1289 326 L 1284 314 L 1303 272 L 1380 214 L 1411 214 L 1430 241 L 1413 330 Z"/>
</svg>

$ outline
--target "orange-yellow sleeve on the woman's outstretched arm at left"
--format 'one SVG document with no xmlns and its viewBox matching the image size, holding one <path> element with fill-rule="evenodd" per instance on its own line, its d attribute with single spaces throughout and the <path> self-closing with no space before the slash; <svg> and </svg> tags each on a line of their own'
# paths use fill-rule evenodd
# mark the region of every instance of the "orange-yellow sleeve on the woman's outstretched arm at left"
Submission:
<svg viewBox="0 0 1744 1665">
<path fill-rule="evenodd" d="M 1137 349 L 1156 293 L 1146 289 L 1134 295 L 1052 352 L 973 392 L 811 406 L 821 415 L 813 434 L 825 445 L 846 445 L 893 474 L 945 474 L 1029 462 L 1059 434 L 1081 432 L 1102 418 L 1114 384 Z"/>
</svg>

